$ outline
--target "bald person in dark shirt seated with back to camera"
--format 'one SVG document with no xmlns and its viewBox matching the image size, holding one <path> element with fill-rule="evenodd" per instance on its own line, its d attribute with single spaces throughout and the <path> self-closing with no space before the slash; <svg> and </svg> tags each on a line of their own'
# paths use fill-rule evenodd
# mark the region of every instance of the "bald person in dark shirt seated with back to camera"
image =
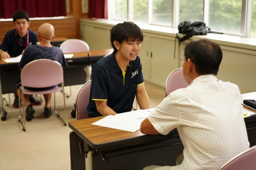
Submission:
<svg viewBox="0 0 256 170">
<path fill-rule="evenodd" d="M 37 44 L 30 45 L 25 49 L 22 59 L 18 63 L 18 67 L 20 70 L 22 70 L 22 68 L 27 63 L 29 63 L 33 60 L 37 60 L 37 59 L 51 59 L 51 60 L 55 60 L 55 61 L 61 63 L 62 66 L 68 65 L 61 49 L 59 47 L 52 46 L 50 43 L 50 41 L 54 38 L 54 28 L 50 23 L 43 23 L 39 27 L 39 29 L 37 31 L 37 38 L 40 41 L 40 43 L 38 45 Z M 20 81 L 17 84 L 17 92 L 18 92 L 19 86 L 21 86 Z M 44 89 L 51 89 L 54 87 L 55 86 L 47 87 Z M 34 90 L 34 91 L 44 90 L 42 88 L 37 89 L 37 88 L 30 88 L 30 87 L 25 87 L 25 89 Z M 22 93 L 20 93 L 20 95 L 22 95 Z M 44 115 L 46 117 L 49 117 L 52 114 L 51 106 L 50 106 L 51 96 L 52 96 L 52 93 L 44 94 L 44 98 L 45 98 Z M 29 121 L 32 118 L 34 118 L 33 114 L 35 113 L 34 108 L 29 103 L 29 95 L 24 94 L 23 103 L 26 107 L 26 120 Z"/>
</svg>

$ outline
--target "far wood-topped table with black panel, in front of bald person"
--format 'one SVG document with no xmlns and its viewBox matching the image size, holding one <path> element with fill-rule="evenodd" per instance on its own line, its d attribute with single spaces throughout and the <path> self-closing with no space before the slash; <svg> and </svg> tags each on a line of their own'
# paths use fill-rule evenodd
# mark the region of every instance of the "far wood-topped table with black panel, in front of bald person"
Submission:
<svg viewBox="0 0 256 170">
<path fill-rule="evenodd" d="M 93 66 L 98 60 L 105 55 L 113 52 L 113 49 L 93 50 L 90 51 L 90 63 Z M 72 53 L 74 56 L 66 59 L 68 66 L 63 67 L 64 71 L 64 85 L 78 85 L 84 84 L 86 81 L 86 72 L 84 67 L 88 65 L 88 52 Z M 18 63 L 6 63 L 0 59 L 0 104 L 1 111 L 4 115 L 7 114 L 3 107 L 2 94 L 16 92 L 17 81 L 21 79 L 21 71 L 18 68 Z"/>
</svg>

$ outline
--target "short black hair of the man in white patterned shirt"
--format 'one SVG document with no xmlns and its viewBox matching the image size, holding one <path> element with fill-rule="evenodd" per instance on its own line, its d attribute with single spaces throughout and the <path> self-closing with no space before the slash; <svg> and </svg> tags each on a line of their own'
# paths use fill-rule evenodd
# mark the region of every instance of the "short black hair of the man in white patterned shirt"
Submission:
<svg viewBox="0 0 256 170">
<path fill-rule="evenodd" d="M 184 50 L 185 59 L 191 59 L 200 75 L 217 75 L 222 60 L 220 45 L 208 39 L 190 41 Z"/>
</svg>

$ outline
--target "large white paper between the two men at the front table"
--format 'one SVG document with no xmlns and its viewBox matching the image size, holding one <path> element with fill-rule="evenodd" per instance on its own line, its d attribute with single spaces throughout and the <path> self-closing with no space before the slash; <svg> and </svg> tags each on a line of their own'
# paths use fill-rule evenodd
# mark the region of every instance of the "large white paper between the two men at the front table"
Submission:
<svg viewBox="0 0 256 170">
<path fill-rule="evenodd" d="M 92 123 L 92 125 L 135 132 L 140 129 L 142 121 L 147 118 L 153 110 L 154 108 L 109 115 Z"/>
</svg>

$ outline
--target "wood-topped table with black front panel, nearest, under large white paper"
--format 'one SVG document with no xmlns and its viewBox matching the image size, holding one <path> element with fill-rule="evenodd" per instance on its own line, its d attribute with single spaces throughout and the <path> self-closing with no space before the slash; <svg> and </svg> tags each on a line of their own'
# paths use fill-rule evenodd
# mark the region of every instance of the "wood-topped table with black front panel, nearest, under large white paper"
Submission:
<svg viewBox="0 0 256 170">
<path fill-rule="evenodd" d="M 244 99 L 256 99 L 256 92 L 242 94 Z M 243 107 L 250 146 L 256 145 L 256 112 Z M 178 131 L 168 135 L 144 135 L 92 125 L 102 117 L 69 122 L 71 169 L 143 169 L 157 165 L 175 165 L 176 156 L 183 152 Z M 79 144 L 80 143 L 80 144 Z M 82 154 L 81 154 L 82 153 Z"/>
</svg>

